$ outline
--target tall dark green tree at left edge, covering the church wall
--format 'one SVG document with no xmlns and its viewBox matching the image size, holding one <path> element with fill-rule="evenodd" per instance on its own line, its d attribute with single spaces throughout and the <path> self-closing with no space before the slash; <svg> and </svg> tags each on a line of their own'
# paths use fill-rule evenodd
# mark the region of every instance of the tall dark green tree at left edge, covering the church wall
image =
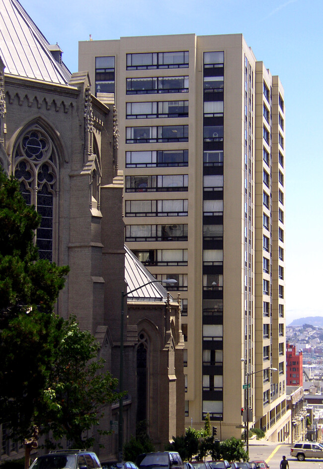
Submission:
<svg viewBox="0 0 323 469">
<path fill-rule="evenodd" d="M 0 171 L 0 416 L 15 439 L 34 424 L 62 325 L 52 311 L 69 271 L 39 260 L 39 221 Z"/>
</svg>

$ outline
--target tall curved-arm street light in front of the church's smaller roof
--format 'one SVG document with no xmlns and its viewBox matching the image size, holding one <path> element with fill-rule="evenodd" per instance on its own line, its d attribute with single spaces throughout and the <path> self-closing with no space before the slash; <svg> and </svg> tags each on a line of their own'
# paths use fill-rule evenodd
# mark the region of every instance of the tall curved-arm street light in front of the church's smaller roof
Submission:
<svg viewBox="0 0 323 469">
<path fill-rule="evenodd" d="M 151 280 L 143 285 L 138 286 L 130 291 L 121 291 L 121 318 L 120 318 L 120 375 L 119 375 L 119 392 L 123 392 L 123 317 L 124 317 L 124 299 L 133 293 L 134 291 L 140 290 L 144 286 L 150 285 L 151 283 L 168 283 L 170 285 L 174 285 L 177 283 L 177 280 L 174 279 L 167 279 L 167 280 Z M 123 397 L 120 396 L 119 399 L 119 426 L 118 426 L 118 452 L 119 452 L 119 462 L 122 462 L 123 459 Z"/>
</svg>

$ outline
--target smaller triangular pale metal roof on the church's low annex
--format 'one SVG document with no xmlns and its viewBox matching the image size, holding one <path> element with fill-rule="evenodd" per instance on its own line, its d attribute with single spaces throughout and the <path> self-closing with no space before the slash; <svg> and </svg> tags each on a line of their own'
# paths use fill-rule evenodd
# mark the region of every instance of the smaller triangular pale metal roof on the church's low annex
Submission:
<svg viewBox="0 0 323 469">
<path fill-rule="evenodd" d="M 129 293 L 127 297 L 132 301 L 166 301 L 167 290 L 161 283 L 156 282 L 156 278 L 146 269 L 145 266 L 137 259 L 137 257 L 125 246 L 125 281 L 127 283 L 127 291 L 138 290 Z M 150 281 L 149 285 L 143 286 Z M 172 296 L 170 296 L 172 300 Z"/>
</svg>

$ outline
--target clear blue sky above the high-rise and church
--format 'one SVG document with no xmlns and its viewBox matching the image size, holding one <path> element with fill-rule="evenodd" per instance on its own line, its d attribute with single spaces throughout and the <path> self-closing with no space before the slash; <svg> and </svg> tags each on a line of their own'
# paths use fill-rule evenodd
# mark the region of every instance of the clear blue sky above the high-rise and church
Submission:
<svg viewBox="0 0 323 469">
<path fill-rule="evenodd" d="M 279 75 L 286 106 L 287 324 L 323 315 L 322 0 L 20 0 L 78 71 L 78 41 L 154 34 L 242 33 Z M 321 142 L 321 143 L 320 143 Z"/>
</svg>

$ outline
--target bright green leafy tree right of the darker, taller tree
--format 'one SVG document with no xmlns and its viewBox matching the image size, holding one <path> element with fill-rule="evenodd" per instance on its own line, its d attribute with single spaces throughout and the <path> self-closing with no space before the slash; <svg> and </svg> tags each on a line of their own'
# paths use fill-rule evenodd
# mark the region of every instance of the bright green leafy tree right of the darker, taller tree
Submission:
<svg viewBox="0 0 323 469">
<path fill-rule="evenodd" d="M 75 317 L 65 321 L 44 393 L 47 422 L 44 432 L 51 431 L 54 440 L 66 436 L 72 448 L 88 448 L 93 437 L 85 430 L 99 425 L 104 408 L 120 398 L 118 380 L 103 372 L 104 360 L 97 360 L 98 344 L 88 331 L 81 331 Z M 43 412 L 38 415 L 43 419 Z"/>
</svg>

